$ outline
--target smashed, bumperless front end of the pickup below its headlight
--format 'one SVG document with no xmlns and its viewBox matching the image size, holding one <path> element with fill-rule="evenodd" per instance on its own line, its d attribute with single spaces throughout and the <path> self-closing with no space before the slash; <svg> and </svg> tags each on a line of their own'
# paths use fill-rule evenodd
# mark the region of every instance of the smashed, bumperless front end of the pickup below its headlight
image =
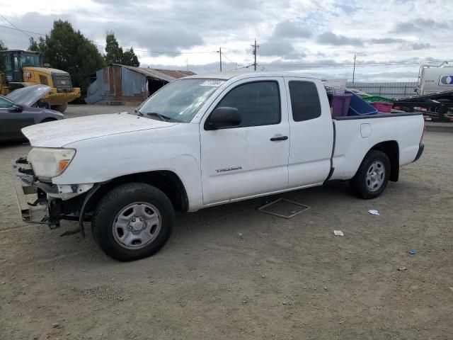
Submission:
<svg viewBox="0 0 453 340">
<path fill-rule="evenodd" d="M 60 220 L 76 220 L 84 236 L 83 222 L 90 220 L 84 210 L 98 186 L 40 181 L 26 157 L 16 159 L 13 169 L 20 179 L 15 183 L 16 198 L 25 222 L 46 224 L 53 229 L 59 227 Z"/>
</svg>

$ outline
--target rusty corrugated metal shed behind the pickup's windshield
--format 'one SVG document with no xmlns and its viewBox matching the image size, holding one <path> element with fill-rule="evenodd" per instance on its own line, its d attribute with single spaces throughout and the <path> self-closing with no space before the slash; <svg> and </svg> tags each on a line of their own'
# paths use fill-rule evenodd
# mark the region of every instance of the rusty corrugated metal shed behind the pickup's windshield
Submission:
<svg viewBox="0 0 453 340">
<path fill-rule="evenodd" d="M 170 81 L 194 74 L 190 71 L 110 64 L 93 74 L 85 101 L 88 104 L 135 105 Z"/>
</svg>

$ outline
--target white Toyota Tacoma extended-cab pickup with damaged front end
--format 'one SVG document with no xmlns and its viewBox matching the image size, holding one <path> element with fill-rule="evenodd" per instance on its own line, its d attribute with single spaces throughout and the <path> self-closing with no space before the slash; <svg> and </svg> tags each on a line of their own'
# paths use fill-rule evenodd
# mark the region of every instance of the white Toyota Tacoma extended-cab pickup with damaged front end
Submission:
<svg viewBox="0 0 453 340">
<path fill-rule="evenodd" d="M 129 261 L 164 246 L 175 210 L 332 180 L 375 198 L 420 157 L 423 125 L 418 113 L 332 118 L 323 83 L 297 74 L 186 77 L 134 113 L 24 128 L 33 149 L 15 161 L 16 191 L 24 220 L 78 220 L 82 234 L 89 220 L 103 251 Z"/>
</svg>

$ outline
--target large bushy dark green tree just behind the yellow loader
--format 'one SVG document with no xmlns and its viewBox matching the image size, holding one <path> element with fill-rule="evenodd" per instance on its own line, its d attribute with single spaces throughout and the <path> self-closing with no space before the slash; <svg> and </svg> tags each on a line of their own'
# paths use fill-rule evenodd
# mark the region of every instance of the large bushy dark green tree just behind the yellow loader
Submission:
<svg viewBox="0 0 453 340">
<path fill-rule="evenodd" d="M 54 21 L 50 34 L 39 40 L 30 40 L 30 47 L 42 52 L 45 62 L 55 69 L 69 72 L 73 86 L 86 93 L 91 74 L 105 67 L 105 60 L 98 47 L 85 38 L 80 30 L 74 30 L 68 21 Z"/>
</svg>

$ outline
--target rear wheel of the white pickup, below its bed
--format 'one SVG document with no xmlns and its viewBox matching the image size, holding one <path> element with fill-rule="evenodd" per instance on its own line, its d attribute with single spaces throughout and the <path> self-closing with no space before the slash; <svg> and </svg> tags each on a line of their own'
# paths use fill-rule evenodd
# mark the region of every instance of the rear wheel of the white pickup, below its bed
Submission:
<svg viewBox="0 0 453 340">
<path fill-rule="evenodd" d="M 360 164 L 357 174 L 350 180 L 355 196 L 369 200 L 385 190 L 390 177 L 389 157 L 379 150 L 371 150 Z"/>
</svg>

